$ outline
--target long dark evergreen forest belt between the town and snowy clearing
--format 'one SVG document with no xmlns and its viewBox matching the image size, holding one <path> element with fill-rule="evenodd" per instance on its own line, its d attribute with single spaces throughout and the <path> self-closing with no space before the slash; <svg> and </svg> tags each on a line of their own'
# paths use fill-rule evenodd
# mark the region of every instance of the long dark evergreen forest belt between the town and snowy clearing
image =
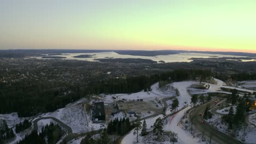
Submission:
<svg viewBox="0 0 256 144">
<path fill-rule="evenodd" d="M 0 113 L 18 112 L 19 117 L 51 112 L 83 97 L 100 93 L 134 93 L 158 81 L 194 80 L 214 76 L 211 70 L 173 70 L 154 75 L 142 75 L 121 79 L 98 80 L 84 85 L 71 85 L 68 82 L 45 82 L 25 79 L 11 85 L 0 82 Z"/>
</svg>

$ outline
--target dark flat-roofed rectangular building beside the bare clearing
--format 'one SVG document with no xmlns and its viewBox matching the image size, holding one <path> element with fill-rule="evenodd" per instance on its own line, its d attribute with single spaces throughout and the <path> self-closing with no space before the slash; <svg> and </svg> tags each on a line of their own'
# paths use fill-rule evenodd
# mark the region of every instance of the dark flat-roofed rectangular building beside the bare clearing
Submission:
<svg viewBox="0 0 256 144">
<path fill-rule="evenodd" d="M 105 107 L 104 102 L 96 102 L 94 103 L 94 108 L 92 110 L 92 121 L 98 122 L 98 121 L 105 121 L 106 115 L 105 115 Z"/>
</svg>

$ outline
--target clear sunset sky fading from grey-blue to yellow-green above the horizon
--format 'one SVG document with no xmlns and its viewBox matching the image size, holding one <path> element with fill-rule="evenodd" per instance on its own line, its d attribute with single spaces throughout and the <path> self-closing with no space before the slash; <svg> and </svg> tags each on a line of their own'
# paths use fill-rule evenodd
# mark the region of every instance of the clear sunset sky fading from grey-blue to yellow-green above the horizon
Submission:
<svg viewBox="0 0 256 144">
<path fill-rule="evenodd" d="M 247 0 L 0 0 L 0 49 L 256 53 Z"/>
</svg>

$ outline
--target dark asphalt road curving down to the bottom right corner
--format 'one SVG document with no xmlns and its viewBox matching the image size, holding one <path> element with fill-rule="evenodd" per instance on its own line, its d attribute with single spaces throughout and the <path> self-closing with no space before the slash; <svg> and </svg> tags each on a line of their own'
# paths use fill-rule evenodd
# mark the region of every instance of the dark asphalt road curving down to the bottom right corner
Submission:
<svg viewBox="0 0 256 144">
<path fill-rule="evenodd" d="M 203 104 L 203 105 L 199 105 L 197 107 L 194 107 L 190 113 L 190 119 L 193 122 L 193 127 L 197 128 L 198 130 L 200 130 L 202 133 L 204 133 L 206 136 L 210 137 L 212 136 L 212 140 L 220 143 L 220 144 L 241 144 L 243 142 L 238 141 L 236 139 L 234 139 L 233 137 L 226 135 L 220 131 L 218 131 L 216 128 L 212 127 L 211 125 L 208 125 L 207 123 L 203 123 L 202 124 L 202 117 L 199 116 L 199 113 L 203 113 L 205 112 L 205 109 L 207 107 L 207 105 L 212 106 L 214 105 L 214 100 Z"/>
</svg>

